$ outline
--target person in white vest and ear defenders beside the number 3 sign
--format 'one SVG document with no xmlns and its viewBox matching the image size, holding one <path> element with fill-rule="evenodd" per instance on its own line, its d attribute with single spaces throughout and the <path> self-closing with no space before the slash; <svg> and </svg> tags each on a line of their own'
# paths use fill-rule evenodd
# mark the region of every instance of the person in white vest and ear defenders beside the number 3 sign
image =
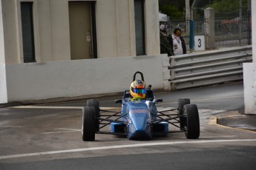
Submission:
<svg viewBox="0 0 256 170">
<path fill-rule="evenodd" d="M 174 55 L 182 55 L 187 53 L 187 48 L 183 37 L 181 36 L 180 27 L 174 29 L 173 35 L 168 35 L 168 41 L 171 44 L 171 52 Z"/>
</svg>

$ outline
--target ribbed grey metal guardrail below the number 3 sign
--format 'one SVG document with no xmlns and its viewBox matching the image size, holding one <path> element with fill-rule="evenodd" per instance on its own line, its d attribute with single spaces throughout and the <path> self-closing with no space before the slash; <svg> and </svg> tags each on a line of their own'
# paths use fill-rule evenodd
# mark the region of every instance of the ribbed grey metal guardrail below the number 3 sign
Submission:
<svg viewBox="0 0 256 170">
<path fill-rule="evenodd" d="M 252 46 L 171 56 L 171 90 L 243 80 Z"/>
</svg>

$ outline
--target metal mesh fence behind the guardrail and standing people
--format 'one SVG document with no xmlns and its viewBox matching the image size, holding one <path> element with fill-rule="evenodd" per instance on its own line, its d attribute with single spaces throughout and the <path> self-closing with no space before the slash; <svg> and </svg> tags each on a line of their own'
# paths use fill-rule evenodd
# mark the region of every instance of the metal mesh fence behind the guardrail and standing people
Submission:
<svg viewBox="0 0 256 170">
<path fill-rule="evenodd" d="M 191 9 L 191 20 L 194 21 L 194 35 L 206 35 L 206 16 L 204 10 L 209 0 L 197 0 Z M 190 30 L 186 18 L 169 18 L 170 33 L 179 26 L 183 30 L 183 38 L 189 49 Z M 214 11 L 215 44 L 217 49 L 223 47 L 239 47 L 252 44 L 251 14 L 248 7 L 240 7 L 231 12 Z"/>
</svg>

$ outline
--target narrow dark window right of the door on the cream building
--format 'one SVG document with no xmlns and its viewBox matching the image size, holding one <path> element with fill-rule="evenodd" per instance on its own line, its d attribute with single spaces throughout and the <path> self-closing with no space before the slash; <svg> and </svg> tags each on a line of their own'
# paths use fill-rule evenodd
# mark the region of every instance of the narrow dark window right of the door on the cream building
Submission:
<svg viewBox="0 0 256 170">
<path fill-rule="evenodd" d="M 145 55 L 144 0 L 134 0 L 137 55 Z"/>
</svg>

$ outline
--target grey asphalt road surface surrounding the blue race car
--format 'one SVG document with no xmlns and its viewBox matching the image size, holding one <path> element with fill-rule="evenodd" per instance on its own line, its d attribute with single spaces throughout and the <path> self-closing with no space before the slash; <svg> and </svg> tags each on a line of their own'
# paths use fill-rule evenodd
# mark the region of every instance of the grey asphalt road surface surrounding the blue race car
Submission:
<svg viewBox="0 0 256 170">
<path fill-rule="evenodd" d="M 0 169 L 255 169 L 256 133 L 227 128 L 214 118 L 243 112 L 243 83 L 155 94 L 159 109 L 177 107 L 191 98 L 200 112 L 200 138 L 174 133 L 153 140 L 96 135 L 83 142 L 82 111 L 86 101 L 0 109 Z M 101 107 L 117 106 L 100 98 Z M 175 127 L 171 127 L 175 129 Z"/>
</svg>

